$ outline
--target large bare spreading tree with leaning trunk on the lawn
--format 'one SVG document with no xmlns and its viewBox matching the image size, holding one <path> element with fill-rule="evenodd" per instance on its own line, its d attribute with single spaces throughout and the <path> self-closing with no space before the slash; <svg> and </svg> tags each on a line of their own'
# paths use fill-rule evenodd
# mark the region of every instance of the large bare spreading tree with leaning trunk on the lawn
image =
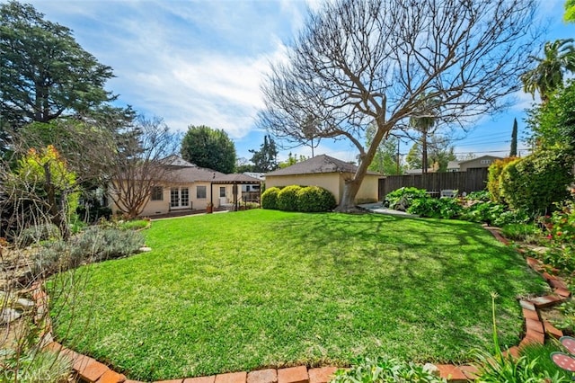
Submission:
<svg viewBox="0 0 575 383">
<path fill-rule="evenodd" d="M 311 116 L 318 137 L 349 139 L 360 165 L 338 210 L 352 209 L 382 139 L 407 129 L 428 100 L 439 102 L 438 124 L 462 127 L 507 106 L 529 64 L 535 8 L 534 0 L 324 4 L 262 86 L 261 126 L 305 143 Z M 364 147 L 372 122 L 376 133 Z"/>
</svg>

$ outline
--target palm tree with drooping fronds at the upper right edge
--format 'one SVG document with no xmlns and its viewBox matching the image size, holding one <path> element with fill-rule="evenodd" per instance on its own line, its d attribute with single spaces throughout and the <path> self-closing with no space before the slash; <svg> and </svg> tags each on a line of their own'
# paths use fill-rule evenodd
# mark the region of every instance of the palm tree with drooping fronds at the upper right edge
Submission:
<svg viewBox="0 0 575 383">
<path fill-rule="evenodd" d="M 575 48 L 573 39 L 548 41 L 544 46 L 544 58 L 533 58 L 538 64 L 521 76 L 523 91 L 535 99 L 535 92 L 541 102 L 547 103 L 555 89 L 563 85 L 565 71 L 575 72 Z"/>
</svg>

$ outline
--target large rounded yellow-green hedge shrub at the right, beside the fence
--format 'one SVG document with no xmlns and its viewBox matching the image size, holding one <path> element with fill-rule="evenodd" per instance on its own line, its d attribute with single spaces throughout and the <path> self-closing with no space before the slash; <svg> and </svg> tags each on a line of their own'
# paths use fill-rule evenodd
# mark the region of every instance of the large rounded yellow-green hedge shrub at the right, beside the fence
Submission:
<svg viewBox="0 0 575 383">
<path fill-rule="evenodd" d="M 542 150 L 505 166 L 500 193 L 510 207 L 541 214 L 569 195 L 567 185 L 572 180 L 568 156 L 559 150 Z"/>
</svg>

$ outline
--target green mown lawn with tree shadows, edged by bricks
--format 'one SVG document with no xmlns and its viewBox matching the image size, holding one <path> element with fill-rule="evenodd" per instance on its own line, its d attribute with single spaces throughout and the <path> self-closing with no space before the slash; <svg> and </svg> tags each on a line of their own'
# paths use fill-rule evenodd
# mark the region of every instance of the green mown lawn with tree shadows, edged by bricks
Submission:
<svg viewBox="0 0 575 383">
<path fill-rule="evenodd" d="M 517 297 L 544 281 L 481 226 L 383 215 L 249 210 L 155 221 L 153 251 L 93 264 L 57 337 L 130 379 L 358 355 L 469 361 L 522 331 Z M 83 319 L 89 318 L 89 324 Z"/>
</svg>

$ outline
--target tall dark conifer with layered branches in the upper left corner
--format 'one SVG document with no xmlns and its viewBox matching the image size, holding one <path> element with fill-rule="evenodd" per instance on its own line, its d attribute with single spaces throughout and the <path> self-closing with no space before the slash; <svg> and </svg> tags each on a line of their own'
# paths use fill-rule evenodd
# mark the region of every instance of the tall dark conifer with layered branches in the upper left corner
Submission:
<svg viewBox="0 0 575 383">
<path fill-rule="evenodd" d="M 82 113 L 113 99 L 104 89 L 111 67 L 30 4 L 0 5 L 0 67 L 1 120 L 11 126 Z"/>
</svg>

